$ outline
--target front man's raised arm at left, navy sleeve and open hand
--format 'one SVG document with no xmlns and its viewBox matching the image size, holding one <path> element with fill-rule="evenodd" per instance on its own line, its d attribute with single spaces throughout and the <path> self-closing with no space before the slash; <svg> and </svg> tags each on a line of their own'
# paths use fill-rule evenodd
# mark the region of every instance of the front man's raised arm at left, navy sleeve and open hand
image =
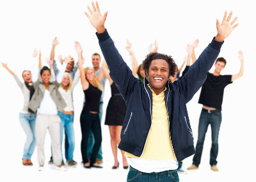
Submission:
<svg viewBox="0 0 256 182">
<path fill-rule="evenodd" d="M 93 11 L 90 9 L 90 6 L 88 6 L 90 15 L 86 12 L 84 13 L 90 20 L 92 26 L 97 30 L 100 49 L 102 50 L 103 56 L 105 57 L 110 70 L 109 75 L 113 82 L 115 82 L 124 100 L 126 100 L 127 96 L 134 88 L 134 84 L 139 82 L 139 80 L 132 75 L 131 69 L 124 62 L 124 59 L 116 49 L 113 40 L 111 40 L 108 31 L 106 31 L 104 23 L 106 21 L 108 11 L 102 16 L 97 1 L 96 8 L 92 2 L 92 8 Z"/>
</svg>

